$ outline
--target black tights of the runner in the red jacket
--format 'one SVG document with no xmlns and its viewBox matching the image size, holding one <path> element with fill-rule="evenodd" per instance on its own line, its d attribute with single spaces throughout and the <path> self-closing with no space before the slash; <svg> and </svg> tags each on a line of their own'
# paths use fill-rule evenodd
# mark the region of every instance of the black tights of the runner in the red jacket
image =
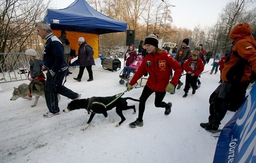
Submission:
<svg viewBox="0 0 256 163">
<path fill-rule="evenodd" d="M 148 86 L 145 86 L 142 91 L 142 94 L 140 96 L 139 115 L 138 115 L 138 120 L 140 120 L 140 121 L 142 121 L 142 118 L 143 118 L 146 100 L 153 92 L 155 92 L 155 106 L 157 108 L 168 109 L 170 107 L 170 105 L 168 105 L 162 101 L 164 99 L 166 92 L 156 92 L 156 91 L 151 90 Z"/>
</svg>

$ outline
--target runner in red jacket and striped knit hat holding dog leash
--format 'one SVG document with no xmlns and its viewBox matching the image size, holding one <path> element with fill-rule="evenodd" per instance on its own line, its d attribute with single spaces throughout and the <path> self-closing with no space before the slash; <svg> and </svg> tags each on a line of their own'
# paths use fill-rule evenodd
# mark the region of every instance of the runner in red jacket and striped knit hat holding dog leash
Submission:
<svg viewBox="0 0 256 163">
<path fill-rule="evenodd" d="M 140 79 L 146 72 L 150 74 L 146 86 L 144 87 L 140 96 L 139 115 L 136 121 L 129 124 L 130 127 L 143 126 L 143 113 L 148 97 L 155 92 L 155 106 L 158 108 L 165 108 L 165 115 L 171 112 L 172 103 L 163 102 L 166 92 L 171 92 L 174 86 L 179 81 L 179 76 L 182 72 L 182 67 L 170 54 L 158 48 L 157 35 L 151 34 L 145 39 L 145 46 L 149 53 L 142 61 L 137 72 L 132 77 L 127 90 L 130 91 L 132 86 Z M 175 71 L 172 80 L 170 81 L 171 69 Z"/>
</svg>

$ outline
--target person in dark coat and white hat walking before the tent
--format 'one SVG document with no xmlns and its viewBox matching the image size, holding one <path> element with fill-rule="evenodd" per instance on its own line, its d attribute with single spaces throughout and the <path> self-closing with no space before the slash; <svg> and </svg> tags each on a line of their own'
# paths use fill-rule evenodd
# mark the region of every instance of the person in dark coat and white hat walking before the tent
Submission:
<svg viewBox="0 0 256 163">
<path fill-rule="evenodd" d="M 73 79 L 80 82 L 84 69 L 86 68 L 89 74 L 89 79 L 87 81 L 93 81 L 92 65 L 95 65 L 95 63 L 92 55 L 92 48 L 86 43 L 84 37 L 79 37 L 78 43 L 80 45 L 78 49 L 78 61 L 80 63 L 80 67 L 77 78 Z"/>
</svg>

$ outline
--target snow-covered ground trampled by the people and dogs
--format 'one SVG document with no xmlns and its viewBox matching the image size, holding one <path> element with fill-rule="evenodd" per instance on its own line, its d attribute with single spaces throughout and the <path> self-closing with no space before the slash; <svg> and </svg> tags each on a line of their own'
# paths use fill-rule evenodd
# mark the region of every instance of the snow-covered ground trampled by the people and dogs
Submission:
<svg viewBox="0 0 256 163">
<path fill-rule="evenodd" d="M 94 81 L 87 82 L 85 70 L 82 82 L 77 82 L 79 67 L 70 67 L 73 73 L 67 77 L 65 86 L 82 94 L 82 98 L 92 96 L 112 96 L 126 90 L 119 84 L 121 70 L 104 70 L 100 59 L 93 66 Z M 121 59 L 122 65 L 124 63 Z M 212 60 L 204 69 L 212 68 Z M 123 66 L 122 66 L 123 67 Z M 120 121 L 115 109 L 108 111 L 115 122 L 105 120 L 96 114 L 89 128 L 80 129 L 88 121 L 85 109 L 62 112 L 52 118 L 44 118 L 48 111 L 46 102 L 39 98 L 36 107 L 30 106 L 33 99 L 19 98 L 10 101 L 13 87 L 29 81 L 17 81 L 0 84 L 0 162 L 1 163 L 212 163 L 218 138 L 200 127 L 209 116 L 209 97 L 218 86 L 220 72 L 201 75 L 201 87 L 192 95 L 190 90 L 186 98 L 183 88 L 175 94 L 167 93 L 164 101 L 172 102 L 172 112 L 164 115 L 164 108 L 154 106 L 154 94 L 146 102 L 144 126 L 130 128 L 128 124 L 138 118 L 139 102 L 128 100 L 135 105 L 137 113 L 123 111 L 126 121 L 120 127 L 114 126 Z M 185 76 L 181 81 L 185 84 Z M 139 98 L 141 88 L 126 92 L 123 97 Z M 63 110 L 71 100 L 62 96 L 59 107 Z M 234 115 L 228 111 L 220 129 Z"/>
</svg>

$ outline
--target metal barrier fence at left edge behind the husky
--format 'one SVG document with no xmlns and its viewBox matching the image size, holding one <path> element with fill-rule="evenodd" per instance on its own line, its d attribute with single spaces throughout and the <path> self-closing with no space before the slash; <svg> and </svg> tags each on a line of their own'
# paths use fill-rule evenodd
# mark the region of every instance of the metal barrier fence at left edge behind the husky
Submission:
<svg viewBox="0 0 256 163">
<path fill-rule="evenodd" d="M 25 53 L 0 53 L 0 83 L 27 80 L 28 71 Z"/>
</svg>

